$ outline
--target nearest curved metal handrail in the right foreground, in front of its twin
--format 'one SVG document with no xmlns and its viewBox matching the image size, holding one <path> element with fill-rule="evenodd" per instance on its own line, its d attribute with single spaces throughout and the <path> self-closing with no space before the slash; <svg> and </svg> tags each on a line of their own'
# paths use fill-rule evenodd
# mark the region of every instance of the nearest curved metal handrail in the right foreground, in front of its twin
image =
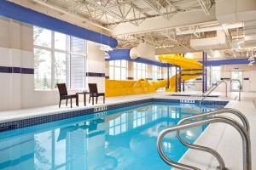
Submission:
<svg viewBox="0 0 256 170">
<path fill-rule="evenodd" d="M 243 148 L 243 170 L 252 170 L 251 141 L 247 134 L 247 131 L 240 125 L 239 122 L 236 122 L 235 120 L 228 117 L 224 117 L 224 116 L 208 117 L 207 120 L 190 122 L 186 124 L 177 125 L 175 127 L 168 127 L 162 130 L 157 139 L 157 149 L 160 154 L 160 157 L 163 159 L 163 161 L 166 161 L 166 163 L 171 165 L 172 167 L 176 167 L 182 170 L 201 170 L 200 168 L 185 165 L 183 163 L 179 163 L 169 159 L 164 154 L 164 151 L 162 148 L 162 140 L 167 133 L 172 133 L 173 131 L 183 130 L 189 127 L 198 127 L 203 124 L 211 124 L 216 122 L 227 123 L 230 126 L 235 127 L 236 130 L 240 133 L 242 138 L 242 148 Z"/>
</svg>

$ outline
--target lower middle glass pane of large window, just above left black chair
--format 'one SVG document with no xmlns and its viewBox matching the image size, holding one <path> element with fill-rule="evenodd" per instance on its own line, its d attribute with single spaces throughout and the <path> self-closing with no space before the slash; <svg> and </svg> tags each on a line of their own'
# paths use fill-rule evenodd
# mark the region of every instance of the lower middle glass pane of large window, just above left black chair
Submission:
<svg viewBox="0 0 256 170">
<path fill-rule="evenodd" d="M 55 84 L 56 83 L 67 83 L 67 54 L 64 53 L 55 53 Z"/>
</svg>

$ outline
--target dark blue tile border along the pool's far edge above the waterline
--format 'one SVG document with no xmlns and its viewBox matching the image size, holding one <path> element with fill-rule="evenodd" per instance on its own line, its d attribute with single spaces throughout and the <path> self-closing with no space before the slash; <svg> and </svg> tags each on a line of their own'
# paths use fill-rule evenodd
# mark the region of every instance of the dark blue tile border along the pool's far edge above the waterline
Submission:
<svg viewBox="0 0 256 170">
<path fill-rule="evenodd" d="M 142 100 L 131 101 L 131 102 L 126 102 L 121 104 L 108 105 L 106 111 L 111 111 L 111 110 L 115 110 L 123 107 L 130 107 L 132 105 L 141 105 L 141 104 L 150 103 L 150 102 L 155 102 L 155 103 L 168 102 L 168 103 L 182 103 L 182 104 L 192 103 L 195 105 L 199 105 L 200 101 L 199 100 L 181 100 L 181 99 L 142 99 Z M 202 101 L 201 104 L 202 105 L 227 105 L 228 103 L 229 101 L 204 100 Z M 90 108 L 90 109 L 83 109 L 79 111 L 68 111 L 68 112 L 66 111 L 66 112 L 47 115 L 47 116 L 32 117 L 28 119 L 22 119 L 22 120 L 11 121 L 11 122 L 2 122 L 0 123 L 0 133 L 9 131 L 9 130 L 23 128 L 23 127 L 31 127 L 39 124 L 44 124 L 47 122 L 60 121 L 63 119 L 68 119 L 68 118 L 77 117 L 77 116 L 85 116 L 90 114 L 92 115 L 99 112 L 102 112 L 102 111 L 96 111 L 95 108 Z"/>
</svg>

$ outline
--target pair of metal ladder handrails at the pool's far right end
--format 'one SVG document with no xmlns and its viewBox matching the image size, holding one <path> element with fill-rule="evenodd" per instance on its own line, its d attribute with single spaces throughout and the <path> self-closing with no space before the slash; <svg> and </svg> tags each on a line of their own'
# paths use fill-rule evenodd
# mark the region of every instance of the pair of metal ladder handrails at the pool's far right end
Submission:
<svg viewBox="0 0 256 170">
<path fill-rule="evenodd" d="M 241 101 L 241 81 L 238 79 L 230 79 L 230 82 L 239 82 L 239 101 Z M 219 85 L 222 83 L 225 83 L 225 97 L 228 97 L 228 83 L 225 80 L 218 81 L 215 85 L 213 85 L 211 88 L 209 88 L 205 93 L 202 94 L 202 99 L 199 102 L 201 105 L 201 102 L 206 99 L 216 88 L 218 88 Z"/>
</svg>

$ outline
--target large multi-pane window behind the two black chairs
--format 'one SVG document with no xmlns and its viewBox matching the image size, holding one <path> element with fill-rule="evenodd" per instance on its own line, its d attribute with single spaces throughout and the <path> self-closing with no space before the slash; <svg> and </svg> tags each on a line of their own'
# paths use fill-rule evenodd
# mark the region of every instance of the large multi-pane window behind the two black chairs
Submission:
<svg viewBox="0 0 256 170">
<path fill-rule="evenodd" d="M 85 88 L 86 42 L 34 26 L 35 89 Z"/>
</svg>

